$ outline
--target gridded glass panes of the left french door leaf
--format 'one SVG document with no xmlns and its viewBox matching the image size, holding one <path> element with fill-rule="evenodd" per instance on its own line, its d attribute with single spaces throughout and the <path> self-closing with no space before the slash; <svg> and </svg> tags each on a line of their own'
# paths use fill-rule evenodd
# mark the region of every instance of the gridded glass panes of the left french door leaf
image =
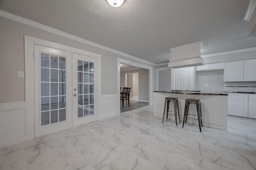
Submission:
<svg viewBox="0 0 256 170">
<path fill-rule="evenodd" d="M 66 121 L 66 57 L 40 53 L 41 127 Z"/>
</svg>

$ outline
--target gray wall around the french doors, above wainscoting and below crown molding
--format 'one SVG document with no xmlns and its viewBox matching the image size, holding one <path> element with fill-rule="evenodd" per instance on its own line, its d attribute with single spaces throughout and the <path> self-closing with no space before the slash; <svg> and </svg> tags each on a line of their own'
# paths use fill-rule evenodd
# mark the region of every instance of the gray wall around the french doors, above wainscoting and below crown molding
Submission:
<svg viewBox="0 0 256 170">
<path fill-rule="evenodd" d="M 66 46 L 101 54 L 102 95 L 117 94 L 117 58 L 152 66 L 125 56 L 102 50 L 57 34 L 53 34 L 4 17 L 0 18 L 0 102 L 24 101 L 24 78 L 18 78 L 18 71 L 24 71 L 24 35 L 56 42 Z M 31 66 L 33 67 L 33 66 Z M 155 81 L 155 66 L 153 81 Z M 115 76 L 116 75 L 116 76 Z M 155 84 L 152 84 L 153 90 Z M 108 89 L 108 90 L 106 90 Z M 26 89 L 32 90 L 32 89 Z M 148 91 L 147 91 L 148 94 Z"/>
</svg>

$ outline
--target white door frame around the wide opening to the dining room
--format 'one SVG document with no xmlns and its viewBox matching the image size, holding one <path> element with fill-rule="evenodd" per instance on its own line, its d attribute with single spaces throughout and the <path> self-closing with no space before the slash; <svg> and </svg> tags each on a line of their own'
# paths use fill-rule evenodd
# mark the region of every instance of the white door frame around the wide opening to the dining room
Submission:
<svg viewBox="0 0 256 170">
<path fill-rule="evenodd" d="M 148 104 L 153 105 L 153 68 L 151 66 L 146 66 L 144 64 L 139 64 L 123 58 L 117 58 L 117 86 L 120 87 L 120 63 L 129 64 L 132 66 L 144 68 L 148 70 Z M 120 96 L 120 89 L 117 88 L 117 94 Z M 118 110 L 120 113 L 120 107 L 118 105 Z"/>
</svg>

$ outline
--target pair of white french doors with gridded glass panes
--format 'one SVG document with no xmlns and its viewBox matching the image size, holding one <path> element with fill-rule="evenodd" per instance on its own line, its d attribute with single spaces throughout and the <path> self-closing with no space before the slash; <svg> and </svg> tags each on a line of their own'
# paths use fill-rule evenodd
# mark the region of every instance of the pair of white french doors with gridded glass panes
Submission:
<svg viewBox="0 0 256 170">
<path fill-rule="evenodd" d="M 97 120 L 96 62 L 34 45 L 35 137 Z"/>
</svg>

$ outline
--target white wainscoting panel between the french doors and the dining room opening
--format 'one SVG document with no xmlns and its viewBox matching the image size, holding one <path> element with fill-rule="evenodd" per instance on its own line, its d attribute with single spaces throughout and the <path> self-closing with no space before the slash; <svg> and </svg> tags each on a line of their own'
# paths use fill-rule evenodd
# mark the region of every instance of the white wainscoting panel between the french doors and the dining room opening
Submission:
<svg viewBox="0 0 256 170">
<path fill-rule="evenodd" d="M 98 120 L 110 118 L 120 114 L 120 96 L 118 94 L 102 95 L 100 99 L 100 113 Z"/>
</svg>

